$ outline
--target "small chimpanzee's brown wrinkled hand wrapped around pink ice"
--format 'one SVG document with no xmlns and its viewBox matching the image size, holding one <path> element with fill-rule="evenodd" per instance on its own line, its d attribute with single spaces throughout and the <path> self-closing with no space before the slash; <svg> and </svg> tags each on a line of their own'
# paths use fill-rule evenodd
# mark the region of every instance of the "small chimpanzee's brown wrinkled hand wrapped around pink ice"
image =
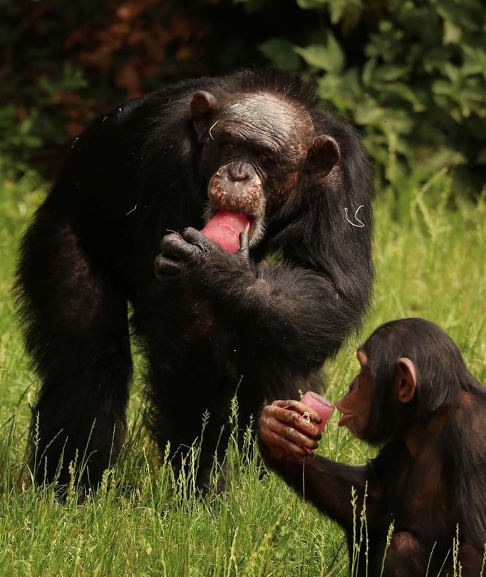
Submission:
<svg viewBox="0 0 486 577">
<path fill-rule="evenodd" d="M 309 454 L 306 449 L 319 446 L 321 433 L 304 414 L 314 423 L 321 423 L 316 411 L 299 401 L 274 401 L 264 407 L 259 419 L 259 437 L 269 457 L 277 461 L 301 461 Z"/>
</svg>

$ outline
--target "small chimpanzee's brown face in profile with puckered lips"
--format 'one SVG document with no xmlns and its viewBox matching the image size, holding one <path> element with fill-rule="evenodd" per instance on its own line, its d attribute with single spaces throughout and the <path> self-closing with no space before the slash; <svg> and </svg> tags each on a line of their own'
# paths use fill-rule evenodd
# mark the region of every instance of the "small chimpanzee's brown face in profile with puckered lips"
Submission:
<svg viewBox="0 0 486 577">
<path fill-rule="evenodd" d="M 361 371 L 349 385 L 349 390 L 336 408 L 343 413 L 338 425 L 346 426 L 358 439 L 366 439 L 371 428 L 371 408 L 373 404 L 373 381 L 366 353 L 359 349 L 356 354 Z"/>
</svg>

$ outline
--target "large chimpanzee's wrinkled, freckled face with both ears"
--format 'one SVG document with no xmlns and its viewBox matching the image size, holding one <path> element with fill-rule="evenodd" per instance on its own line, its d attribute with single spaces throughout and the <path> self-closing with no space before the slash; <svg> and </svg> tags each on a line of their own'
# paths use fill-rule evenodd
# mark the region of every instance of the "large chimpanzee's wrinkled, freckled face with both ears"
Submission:
<svg viewBox="0 0 486 577">
<path fill-rule="evenodd" d="M 269 211 L 282 206 L 301 179 L 322 178 L 338 162 L 336 141 L 316 136 L 304 107 L 281 96 L 250 92 L 222 103 L 197 92 L 191 110 L 208 181 L 206 216 L 246 214 L 250 245 L 262 237 Z"/>
</svg>

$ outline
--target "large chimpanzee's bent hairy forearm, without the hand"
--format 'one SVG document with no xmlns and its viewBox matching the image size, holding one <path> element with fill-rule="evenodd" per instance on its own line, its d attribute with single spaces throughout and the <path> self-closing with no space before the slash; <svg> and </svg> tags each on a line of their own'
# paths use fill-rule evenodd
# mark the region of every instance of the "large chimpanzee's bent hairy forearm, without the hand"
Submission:
<svg viewBox="0 0 486 577">
<path fill-rule="evenodd" d="M 269 344 L 286 355 L 299 354 L 303 362 L 321 364 L 351 329 L 346 302 L 316 272 L 267 263 L 247 270 L 239 263 L 224 268 L 215 263 L 206 272 L 195 274 L 198 285 L 239 334 L 257 337 L 258 346 Z"/>
</svg>

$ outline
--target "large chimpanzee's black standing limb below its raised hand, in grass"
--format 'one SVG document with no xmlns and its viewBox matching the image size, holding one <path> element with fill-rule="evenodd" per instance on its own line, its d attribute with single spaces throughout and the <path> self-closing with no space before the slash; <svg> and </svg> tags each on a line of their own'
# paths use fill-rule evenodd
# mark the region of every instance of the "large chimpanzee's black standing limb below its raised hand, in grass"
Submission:
<svg viewBox="0 0 486 577">
<path fill-rule="evenodd" d="M 227 448 L 229 405 L 239 375 L 227 360 L 224 330 L 215 330 L 205 306 L 188 302 L 177 286 L 157 283 L 135 309 L 149 359 L 148 426 L 162 453 L 170 443 L 176 467 L 195 441 L 200 443 L 196 483 L 207 489 L 214 456 L 221 463 Z"/>
</svg>

